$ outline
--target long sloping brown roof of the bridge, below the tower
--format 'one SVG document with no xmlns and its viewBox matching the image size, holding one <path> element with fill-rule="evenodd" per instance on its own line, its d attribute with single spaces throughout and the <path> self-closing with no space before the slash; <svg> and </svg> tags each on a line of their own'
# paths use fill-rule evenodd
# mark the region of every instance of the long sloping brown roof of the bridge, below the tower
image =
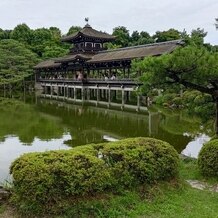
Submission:
<svg viewBox="0 0 218 218">
<path fill-rule="evenodd" d="M 132 46 L 126 48 L 119 48 L 107 51 L 101 51 L 97 54 L 81 53 L 81 54 L 69 54 L 62 58 L 50 59 L 43 61 L 36 65 L 35 69 L 45 68 L 58 68 L 61 67 L 61 63 L 68 63 L 77 61 L 77 59 L 84 60 L 87 64 L 95 63 L 109 63 L 119 62 L 125 60 L 133 60 L 137 58 L 144 58 L 148 56 L 159 56 L 163 54 L 171 53 L 179 45 L 182 45 L 182 40 L 173 40 L 168 42 L 153 43 L 139 46 Z"/>
</svg>

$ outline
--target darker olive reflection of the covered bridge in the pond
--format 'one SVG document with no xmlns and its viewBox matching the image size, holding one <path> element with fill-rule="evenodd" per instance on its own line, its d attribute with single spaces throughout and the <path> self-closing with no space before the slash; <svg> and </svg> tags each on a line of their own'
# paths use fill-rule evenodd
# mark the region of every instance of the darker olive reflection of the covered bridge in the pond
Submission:
<svg viewBox="0 0 218 218">
<path fill-rule="evenodd" d="M 118 139 L 151 136 L 168 141 L 178 151 L 181 151 L 191 140 L 191 137 L 183 135 L 183 130 L 188 129 L 185 125 L 189 123 L 182 122 L 183 129 L 180 129 L 179 133 L 177 131 L 173 132 L 171 126 L 172 129 L 175 129 L 174 124 L 170 122 L 177 125 L 177 118 L 175 117 L 174 120 L 166 118 L 167 115 L 155 111 L 148 112 L 148 114 L 136 114 L 64 103 L 57 104 L 55 101 L 49 102 L 47 100 L 42 100 L 38 105 L 38 109 L 43 113 L 49 113 L 62 119 L 63 125 L 68 127 L 72 135 L 72 140 L 66 142 L 70 146 L 102 142 L 103 135 Z M 193 126 L 193 131 L 198 129 L 198 125 Z"/>
</svg>

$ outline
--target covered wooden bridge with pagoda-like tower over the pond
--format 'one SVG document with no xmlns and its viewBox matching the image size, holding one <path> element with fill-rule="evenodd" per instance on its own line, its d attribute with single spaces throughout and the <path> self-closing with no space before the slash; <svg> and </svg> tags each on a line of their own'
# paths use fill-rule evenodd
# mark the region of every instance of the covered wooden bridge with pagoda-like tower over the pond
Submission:
<svg viewBox="0 0 218 218">
<path fill-rule="evenodd" d="M 104 43 L 114 36 L 86 25 L 81 31 L 62 38 L 71 43 L 70 53 L 62 58 L 43 61 L 34 67 L 36 87 L 45 97 L 72 101 L 117 102 L 122 107 L 135 97 L 140 108 L 140 97 L 134 91 L 142 85 L 137 81 L 140 72 L 131 72 L 131 61 L 147 56 L 172 52 L 182 42 L 174 40 L 105 50 Z"/>
</svg>

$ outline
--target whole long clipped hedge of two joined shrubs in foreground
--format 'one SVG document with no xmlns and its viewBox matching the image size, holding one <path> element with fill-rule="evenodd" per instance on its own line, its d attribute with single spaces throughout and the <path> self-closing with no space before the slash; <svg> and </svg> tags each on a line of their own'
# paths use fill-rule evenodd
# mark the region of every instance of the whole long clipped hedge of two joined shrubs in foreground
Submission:
<svg viewBox="0 0 218 218">
<path fill-rule="evenodd" d="M 133 138 L 24 154 L 11 165 L 11 174 L 12 201 L 18 207 L 49 211 L 67 199 L 75 201 L 175 178 L 178 154 L 166 142 Z"/>
</svg>

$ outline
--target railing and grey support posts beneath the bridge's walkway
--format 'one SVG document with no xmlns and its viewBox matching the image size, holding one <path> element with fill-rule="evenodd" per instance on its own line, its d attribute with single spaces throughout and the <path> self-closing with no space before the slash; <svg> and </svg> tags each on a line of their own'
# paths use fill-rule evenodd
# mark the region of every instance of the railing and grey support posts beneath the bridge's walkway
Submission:
<svg viewBox="0 0 218 218">
<path fill-rule="evenodd" d="M 137 94 L 141 83 L 130 79 L 39 79 L 36 85 L 46 98 L 105 105 L 108 108 L 147 110 L 146 99 Z"/>
</svg>

